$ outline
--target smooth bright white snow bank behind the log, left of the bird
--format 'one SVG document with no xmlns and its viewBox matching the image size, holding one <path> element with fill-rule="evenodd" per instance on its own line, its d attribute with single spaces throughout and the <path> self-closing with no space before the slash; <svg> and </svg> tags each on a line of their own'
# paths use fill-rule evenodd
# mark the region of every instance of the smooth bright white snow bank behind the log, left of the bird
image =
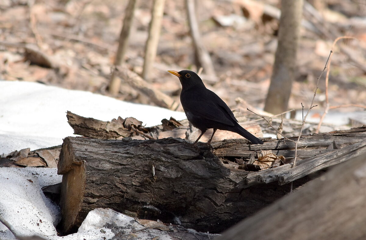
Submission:
<svg viewBox="0 0 366 240">
<path fill-rule="evenodd" d="M 0 89 L 0 154 L 57 146 L 63 138 L 75 136 L 67 123 L 67 111 L 102 121 L 135 117 L 147 127 L 171 116 L 186 119 L 184 112 L 37 82 L 0 81 Z"/>
</svg>

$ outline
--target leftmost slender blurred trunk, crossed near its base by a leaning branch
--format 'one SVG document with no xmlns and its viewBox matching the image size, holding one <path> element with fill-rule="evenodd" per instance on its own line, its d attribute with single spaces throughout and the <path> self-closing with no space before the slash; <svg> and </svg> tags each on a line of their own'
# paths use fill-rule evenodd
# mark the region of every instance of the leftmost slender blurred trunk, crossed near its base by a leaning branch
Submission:
<svg viewBox="0 0 366 240">
<path fill-rule="evenodd" d="M 126 7 L 126 15 L 124 16 L 122 30 L 119 35 L 115 66 L 119 66 L 122 64 L 123 57 L 126 54 L 128 46 L 128 37 L 130 36 L 132 28 L 132 20 L 134 18 L 135 13 L 136 1 L 137 0 L 129 0 L 128 5 Z M 116 95 L 119 92 L 120 87 L 121 87 L 121 80 L 116 76 L 116 74 L 113 71 L 111 76 L 111 83 L 109 84 L 109 92 L 113 95 Z"/>
</svg>

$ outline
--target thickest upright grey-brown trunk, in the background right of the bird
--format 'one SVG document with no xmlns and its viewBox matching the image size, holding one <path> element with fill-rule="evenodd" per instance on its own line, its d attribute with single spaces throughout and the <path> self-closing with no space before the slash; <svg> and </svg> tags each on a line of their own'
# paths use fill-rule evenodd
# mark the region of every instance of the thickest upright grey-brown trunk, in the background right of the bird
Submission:
<svg viewBox="0 0 366 240">
<path fill-rule="evenodd" d="M 292 81 L 295 78 L 303 0 L 282 0 L 278 46 L 264 111 L 287 111 Z"/>
</svg>

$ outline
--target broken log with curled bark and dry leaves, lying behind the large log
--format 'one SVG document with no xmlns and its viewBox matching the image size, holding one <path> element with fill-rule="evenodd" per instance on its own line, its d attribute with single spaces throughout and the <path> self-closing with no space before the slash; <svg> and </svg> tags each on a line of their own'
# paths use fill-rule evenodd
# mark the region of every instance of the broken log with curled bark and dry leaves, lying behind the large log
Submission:
<svg viewBox="0 0 366 240">
<path fill-rule="evenodd" d="M 191 129 L 188 120 L 177 121 L 174 118 L 170 120 L 161 120 L 163 125 L 154 127 L 143 127 L 142 122 L 127 117 L 123 119 L 118 117 L 112 121 L 101 121 L 91 117 L 82 117 L 67 111 L 66 114 L 68 124 L 74 129 L 74 134 L 82 135 L 94 139 L 120 139 L 124 137 L 132 137 L 134 139 L 158 139 L 158 138 L 188 138 L 195 140 L 201 133 L 197 128 Z M 261 128 L 256 123 L 242 123 L 244 117 L 238 117 L 240 125 L 249 132 L 258 137 L 263 137 Z M 201 138 L 202 142 L 207 142 L 212 135 L 212 129 L 209 129 Z M 238 133 L 217 130 L 213 140 L 221 141 L 223 139 L 243 138 Z"/>
</svg>

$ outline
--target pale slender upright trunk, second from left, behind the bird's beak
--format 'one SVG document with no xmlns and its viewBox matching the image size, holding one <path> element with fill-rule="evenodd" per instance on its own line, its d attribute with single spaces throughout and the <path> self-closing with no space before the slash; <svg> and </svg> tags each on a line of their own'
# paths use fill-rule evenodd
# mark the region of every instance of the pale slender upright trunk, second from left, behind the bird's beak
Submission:
<svg viewBox="0 0 366 240">
<path fill-rule="evenodd" d="M 161 21 L 163 20 L 165 0 L 154 0 L 151 21 L 149 26 L 149 36 L 146 41 L 145 59 L 143 62 L 142 78 L 147 80 L 156 57 L 158 47 Z"/>
</svg>

